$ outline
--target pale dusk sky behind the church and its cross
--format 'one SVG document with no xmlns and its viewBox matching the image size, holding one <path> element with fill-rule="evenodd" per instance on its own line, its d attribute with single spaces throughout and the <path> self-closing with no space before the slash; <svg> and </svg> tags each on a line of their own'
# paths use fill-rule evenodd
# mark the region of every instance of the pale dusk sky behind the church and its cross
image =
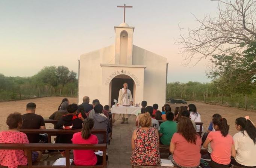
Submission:
<svg viewBox="0 0 256 168">
<path fill-rule="evenodd" d="M 215 15 L 210 0 L 1 0 L 0 73 L 33 76 L 45 66 L 78 72 L 80 55 L 114 44 L 114 26 L 134 26 L 133 44 L 167 58 L 168 82 L 210 82 L 208 59 L 185 67 L 174 44 L 179 27 L 198 27 L 194 15 Z"/>
</svg>

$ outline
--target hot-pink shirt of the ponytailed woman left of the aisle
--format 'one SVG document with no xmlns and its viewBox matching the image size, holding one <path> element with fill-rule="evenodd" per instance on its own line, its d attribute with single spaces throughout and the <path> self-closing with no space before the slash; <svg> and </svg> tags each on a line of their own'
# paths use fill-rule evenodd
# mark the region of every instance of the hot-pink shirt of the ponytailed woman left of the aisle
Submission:
<svg viewBox="0 0 256 168">
<path fill-rule="evenodd" d="M 89 136 L 88 139 L 82 138 L 82 132 L 74 133 L 72 138 L 73 144 L 97 144 L 96 135 Z M 77 166 L 93 166 L 97 163 L 97 156 L 94 150 L 74 150 L 74 162 Z"/>
</svg>

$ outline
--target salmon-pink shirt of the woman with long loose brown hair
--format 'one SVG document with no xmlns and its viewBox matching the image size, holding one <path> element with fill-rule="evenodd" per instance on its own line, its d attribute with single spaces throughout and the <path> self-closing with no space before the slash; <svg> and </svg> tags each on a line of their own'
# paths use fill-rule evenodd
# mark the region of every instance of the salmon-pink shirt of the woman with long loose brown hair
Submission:
<svg viewBox="0 0 256 168">
<path fill-rule="evenodd" d="M 175 144 L 174 161 L 183 167 L 197 167 L 200 165 L 201 138 L 199 135 L 194 143 L 189 143 L 180 133 L 174 133 L 171 142 Z M 193 157 L 191 157 L 193 156 Z"/>
</svg>

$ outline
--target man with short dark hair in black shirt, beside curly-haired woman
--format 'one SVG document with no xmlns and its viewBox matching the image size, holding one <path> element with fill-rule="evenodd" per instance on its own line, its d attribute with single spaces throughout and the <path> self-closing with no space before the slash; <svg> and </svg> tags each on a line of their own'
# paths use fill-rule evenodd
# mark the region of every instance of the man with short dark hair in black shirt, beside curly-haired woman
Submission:
<svg viewBox="0 0 256 168">
<path fill-rule="evenodd" d="M 26 114 L 22 115 L 23 124 L 21 128 L 23 129 L 45 129 L 45 123 L 42 116 L 35 114 L 36 104 L 28 103 L 26 108 Z M 29 143 L 39 143 L 39 134 L 27 134 Z"/>
</svg>

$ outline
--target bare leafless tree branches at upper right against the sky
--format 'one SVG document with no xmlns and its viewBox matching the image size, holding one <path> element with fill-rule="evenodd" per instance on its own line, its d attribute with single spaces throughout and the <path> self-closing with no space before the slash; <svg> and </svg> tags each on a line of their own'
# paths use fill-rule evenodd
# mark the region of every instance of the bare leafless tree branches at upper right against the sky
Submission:
<svg viewBox="0 0 256 168">
<path fill-rule="evenodd" d="M 186 65 L 192 59 L 197 62 L 214 54 L 230 54 L 239 52 L 242 47 L 255 40 L 256 37 L 256 0 L 212 0 L 218 2 L 218 15 L 205 16 L 195 21 L 200 26 L 188 29 L 176 41 L 181 45 L 181 53 L 185 56 Z"/>
</svg>

